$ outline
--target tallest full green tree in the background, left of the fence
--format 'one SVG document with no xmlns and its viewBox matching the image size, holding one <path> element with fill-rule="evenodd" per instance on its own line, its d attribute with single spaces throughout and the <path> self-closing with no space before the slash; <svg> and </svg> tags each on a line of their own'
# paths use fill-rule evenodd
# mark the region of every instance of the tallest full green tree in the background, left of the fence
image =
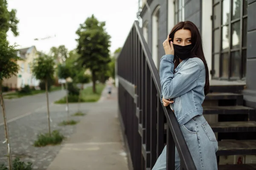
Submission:
<svg viewBox="0 0 256 170">
<path fill-rule="evenodd" d="M 94 15 L 88 17 L 80 24 L 76 34 L 79 63 L 89 68 L 92 73 L 93 93 L 96 93 L 97 74 L 102 72 L 102 67 L 110 62 L 109 47 L 110 35 L 105 31 L 105 22 L 99 22 Z"/>
</svg>

